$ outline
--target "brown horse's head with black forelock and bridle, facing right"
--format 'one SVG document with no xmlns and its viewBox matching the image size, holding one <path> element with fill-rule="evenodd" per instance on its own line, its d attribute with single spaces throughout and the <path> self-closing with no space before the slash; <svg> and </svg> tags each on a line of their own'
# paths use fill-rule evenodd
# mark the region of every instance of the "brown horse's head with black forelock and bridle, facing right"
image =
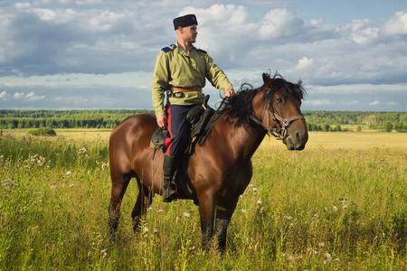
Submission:
<svg viewBox="0 0 407 271">
<path fill-rule="evenodd" d="M 308 130 L 299 107 L 305 90 L 279 75 L 270 78 L 263 73 L 264 85 L 260 107 L 256 114 L 271 135 L 279 137 L 289 150 L 303 150 L 308 141 Z M 253 108 L 256 111 L 256 108 Z M 260 116 L 259 116 L 260 113 Z"/>
</svg>

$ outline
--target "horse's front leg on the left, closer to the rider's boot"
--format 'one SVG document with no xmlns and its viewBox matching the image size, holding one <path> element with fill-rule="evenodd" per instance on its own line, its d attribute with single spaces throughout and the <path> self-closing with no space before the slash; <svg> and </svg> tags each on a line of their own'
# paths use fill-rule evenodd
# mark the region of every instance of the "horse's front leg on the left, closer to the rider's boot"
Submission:
<svg viewBox="0 0 407 271">
<path fill-rule="evenodd" d="M 213 219 L 215 203 L 213 195 L 198 197 L 199 215 L 201 217 L 202 244 L 205 249 L 209 248 L 209 242 L 213 237 Z"/>
</svg>

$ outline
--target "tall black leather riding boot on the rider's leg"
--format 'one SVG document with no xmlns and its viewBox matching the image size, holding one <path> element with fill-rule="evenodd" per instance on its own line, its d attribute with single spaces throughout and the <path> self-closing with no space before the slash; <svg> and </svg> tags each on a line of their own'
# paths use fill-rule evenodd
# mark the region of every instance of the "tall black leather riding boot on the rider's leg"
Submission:
<svg viewBox="0 0 407 271">
<path fill-rule="evenodd" d="M 178 158 L 175 156 L 164 155 L 163 173 L 163 201 L 171 202 L 178 198 L 178 192 L 175 186 L 175 172 L 178 167 Z"/>
</svg>

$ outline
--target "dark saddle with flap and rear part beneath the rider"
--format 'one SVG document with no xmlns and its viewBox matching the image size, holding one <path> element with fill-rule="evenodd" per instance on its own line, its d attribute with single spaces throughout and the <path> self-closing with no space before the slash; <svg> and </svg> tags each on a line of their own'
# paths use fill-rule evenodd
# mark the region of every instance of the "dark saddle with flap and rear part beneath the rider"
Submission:
<svg viewBox="0 0 407 271">
<path fill-rule="evenodd" d="M 186 114 L 190 126 L 190 140 L 185 155 L 181 158 L 178 170 L 175 173 L 175 183 L 178 189 L 179 199 L 193 200 L 198 205 L 198 199 L 194 186 L 188 176 L 189 157 L 194 153 L 194 145 L 204 145 L 207 137 L 206 127 L 214 114 L 214 109 L 208 106 L 209 95 L 205 97 L 204 104 L 191 108 Z M 158 127 L 151 137 L 150 146 L 153 148 L 153 160 L 156 150 L 164 145 L 168 130 Z"/>
</svg>

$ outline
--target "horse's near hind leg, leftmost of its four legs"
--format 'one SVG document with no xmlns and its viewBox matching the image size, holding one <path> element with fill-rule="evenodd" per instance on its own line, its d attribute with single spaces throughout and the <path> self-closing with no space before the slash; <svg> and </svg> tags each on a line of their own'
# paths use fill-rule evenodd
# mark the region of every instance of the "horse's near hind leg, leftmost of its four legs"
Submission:
<svg viewBox="0 0 407 271">
<path fill-rule="evenodd" d="M 130 182 L 130 179 L 131 175 L 129 174 L 111 174 L 112 187 L 109 204 L 109 228 L 110 233 L 112 234 L 118 229 L 121 200 L 123 200 L 123 196 L 128 189 L 128 182 Z"/>
</svg>

